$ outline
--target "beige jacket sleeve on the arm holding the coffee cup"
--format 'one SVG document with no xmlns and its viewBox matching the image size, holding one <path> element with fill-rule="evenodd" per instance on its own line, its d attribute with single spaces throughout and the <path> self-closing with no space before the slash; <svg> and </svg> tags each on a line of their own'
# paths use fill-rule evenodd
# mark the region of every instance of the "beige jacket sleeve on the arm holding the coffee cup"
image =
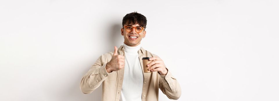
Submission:
<svg viewBox="0 0 279 101">
<path fill-rule="evenodd" d="M 159 73 L 158 73 L 159 74 Z M 160 74 L 159 74 L 160 75 Z M 172 76 L 170 71 L 163 76 L 160 75 L 159 77 L 159 88 L 161 91 L 169 98 L 173 100 L 177 100 L 181 96 L 181 87 L 177 82 L 176 78 Z"/>
</svg>

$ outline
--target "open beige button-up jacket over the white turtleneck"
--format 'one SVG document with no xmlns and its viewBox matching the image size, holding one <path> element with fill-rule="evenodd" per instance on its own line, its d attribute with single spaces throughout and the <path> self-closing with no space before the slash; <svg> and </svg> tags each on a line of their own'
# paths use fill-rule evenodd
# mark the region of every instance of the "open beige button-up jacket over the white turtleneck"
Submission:
<svg viewBox="0 0 279 101">
<path fill-rule="evenodd" d="M 118 54 L 125 56 L 124 46 L 118 48 Z M 82 77 L 80 90 L 89 94 L 102 85 L 102 101 L 119 101 L 123 83 L 124 69 L 107 73 L 105 66 L 111 60 L 113 52 L 101 55 L 91 66 L 90 70 Z M 138 57 L 143 71 L 143 57 L 158 57 L 145 51 L 142 47 L 138 50 Z M 181 88 L 176 78 L 170 71 L 167 75 L 160 75 L 158 72 L 144 73 L 142 100 L 158 101 L 158 91 L 161 91 L 170 99 L 177 100 L 181 96 Z"/>
</svg>

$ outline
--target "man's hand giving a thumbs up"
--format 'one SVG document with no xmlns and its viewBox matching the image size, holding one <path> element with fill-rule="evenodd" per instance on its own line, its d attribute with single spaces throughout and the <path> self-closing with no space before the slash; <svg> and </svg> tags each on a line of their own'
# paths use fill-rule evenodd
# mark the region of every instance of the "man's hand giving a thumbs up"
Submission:
<svg viewBox="0 0 279 101">
<path fill-rule="evenodd" d="M 125 57 L 123 55 L 118 55 L 117 50 L 117 47 L 114 46 L 112 58 L 106 65 L 106 70 L 108 73 L 123 69 L 125 66 Z"/>
</svg>

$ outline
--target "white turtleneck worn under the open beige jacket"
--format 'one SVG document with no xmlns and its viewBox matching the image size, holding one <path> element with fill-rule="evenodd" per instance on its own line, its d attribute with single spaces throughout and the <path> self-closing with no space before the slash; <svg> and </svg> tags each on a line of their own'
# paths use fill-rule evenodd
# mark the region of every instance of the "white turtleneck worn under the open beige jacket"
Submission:
<svg viewBox="0 0 279 101">
<path fill-rule="evenodd" d="M 143 72 L 141 69 L 138 50 L 141 44 L 135 47 L 123 44 L 125 51 L 124 78 L 120 101 L 142 101 Z"/>
</svg>

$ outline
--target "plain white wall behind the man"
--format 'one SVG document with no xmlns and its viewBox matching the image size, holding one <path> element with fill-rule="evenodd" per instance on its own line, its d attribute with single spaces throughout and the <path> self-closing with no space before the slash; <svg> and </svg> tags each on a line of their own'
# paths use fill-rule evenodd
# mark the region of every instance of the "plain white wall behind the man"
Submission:
<svg viewBox="0 0 279 101">
<path fill-rule="evenodd" d="M 0 100 L 100 101 L 79 84 L 123 44 L 122 18 L 147 17 L 143 48 L 177 78 L 179 101 L 278 101 L 276 0 L 1 0 Z M 169 99 L 159 91 L 159 100 Z"/>
</svg>

